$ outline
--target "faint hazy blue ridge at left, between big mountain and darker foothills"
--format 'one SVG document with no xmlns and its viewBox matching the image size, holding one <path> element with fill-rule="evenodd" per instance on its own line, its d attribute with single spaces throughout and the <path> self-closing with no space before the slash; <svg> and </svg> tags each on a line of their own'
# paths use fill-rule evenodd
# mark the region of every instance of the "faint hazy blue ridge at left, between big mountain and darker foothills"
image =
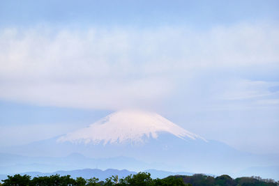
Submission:
<svg viewBox="0 0 279 186">
<path fill-rule="evenodd" d="M 28 157 L 0 153 L 0 174 L 22 173 L 29 171 L 54 172 L 73 169 L 126 169 L 144 170 L 152 164 L 146 164 L 130 157 L 91 158 L 79 153 L 65 157 Z M 137 169 L 133 169 L 136 167 Z"/>
</svg>

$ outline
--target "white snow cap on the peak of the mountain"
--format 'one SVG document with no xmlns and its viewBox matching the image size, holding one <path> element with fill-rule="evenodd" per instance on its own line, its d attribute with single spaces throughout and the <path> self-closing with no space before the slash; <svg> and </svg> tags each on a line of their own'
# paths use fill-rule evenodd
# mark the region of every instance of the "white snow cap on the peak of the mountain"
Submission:
<svg viewBox="0 0 279 186">
<path fill-rule="evenodd" d="M 168 121 L 159 114 L 125 110 L 116 111 L 96 123 L 84 127 L 75 132 L 68 133 L 58 139 L 58 141 L 93 142 L 98 144 L 121 143 L 123 141 L 142 142 L 143 137 L 158 137 L 158 132 L 168 132 L 181 139 L 202 139 L 201 137 L 184 130 L 182 127 Z"/>
</svg>

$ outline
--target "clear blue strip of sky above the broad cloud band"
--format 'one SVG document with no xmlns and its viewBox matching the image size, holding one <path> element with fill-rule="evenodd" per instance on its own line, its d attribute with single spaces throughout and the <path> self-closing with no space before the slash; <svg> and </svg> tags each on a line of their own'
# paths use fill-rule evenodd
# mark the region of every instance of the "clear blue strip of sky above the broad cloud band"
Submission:
<svg viewBox="0 0 279 186">
<path fill-rule="evenodd" d="M 1 1 L 1 25 L 86 24 L 195 28 L 278 20 L 278 1 Z"/>
</svg>

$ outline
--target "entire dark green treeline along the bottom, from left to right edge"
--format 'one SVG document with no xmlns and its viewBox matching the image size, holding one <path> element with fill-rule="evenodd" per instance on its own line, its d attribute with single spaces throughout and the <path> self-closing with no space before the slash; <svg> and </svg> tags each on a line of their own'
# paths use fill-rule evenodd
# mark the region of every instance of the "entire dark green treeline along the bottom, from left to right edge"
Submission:
<svg viewBox="0 0 279 186">
<path fill-rule="evenodd" d="M 279 182 L 268 179 L 263 180 L 259 177 L 242 177 L 233 179 L 227 175 L 218 177 L 206 176 L 204 174 L 194 174 L 193 176 L 169 176 L 163 179 L 152 179 L 150 173 L 137 173 L 134 175 L 126 176 L 126 178 L 119 179 L 118 176 L 112 176 L 105 179 L 105 181 L 99 181 L 98 178 L 90 178 L 85 180 L 82 177 L 76 179 L 67 176 L 38 176 L 31 179 L 31 176 L 15 174 L 15 176 L 8 176 L 8 179 L 2 180 L 3 184 L 9 186 L 84 186 L 84 185 L 133 185 L 133 186 L 278 186 Z"/>
</svg>

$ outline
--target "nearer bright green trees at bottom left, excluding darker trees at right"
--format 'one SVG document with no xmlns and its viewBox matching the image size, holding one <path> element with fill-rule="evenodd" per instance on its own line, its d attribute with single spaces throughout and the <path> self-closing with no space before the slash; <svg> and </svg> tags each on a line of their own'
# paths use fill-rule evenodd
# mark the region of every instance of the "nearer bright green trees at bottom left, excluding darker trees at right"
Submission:
<svg viewBox="0 0 279 186">
<path fill-rule="evenodd" d="M 152 179 L 150 173 L 137 173 L 134 175 L 126 176 L 126 178 L 119 179 L 118 176 L 112 176 L 105 179 L 105 181 L 99 181 L 98 178 L 90 178 L 85 180 L 82 177 L 76 179 L 70 178 L 70 175 L 67 176 L 38 176 L 31 179 L 31 176 L 20 174 L 15 174 L 15 176 L 8 176 L 8 179 L 2 180 L 3 186 L 84 186 L 84 185 L 135 185 L 135 186 L 149 186 L 149 185 L 177 185 L 184 186 L 182 178 L 164 178 L 164 179 Z M 1 185 L 1 183 L 0 183 Z"/>
</svg>

